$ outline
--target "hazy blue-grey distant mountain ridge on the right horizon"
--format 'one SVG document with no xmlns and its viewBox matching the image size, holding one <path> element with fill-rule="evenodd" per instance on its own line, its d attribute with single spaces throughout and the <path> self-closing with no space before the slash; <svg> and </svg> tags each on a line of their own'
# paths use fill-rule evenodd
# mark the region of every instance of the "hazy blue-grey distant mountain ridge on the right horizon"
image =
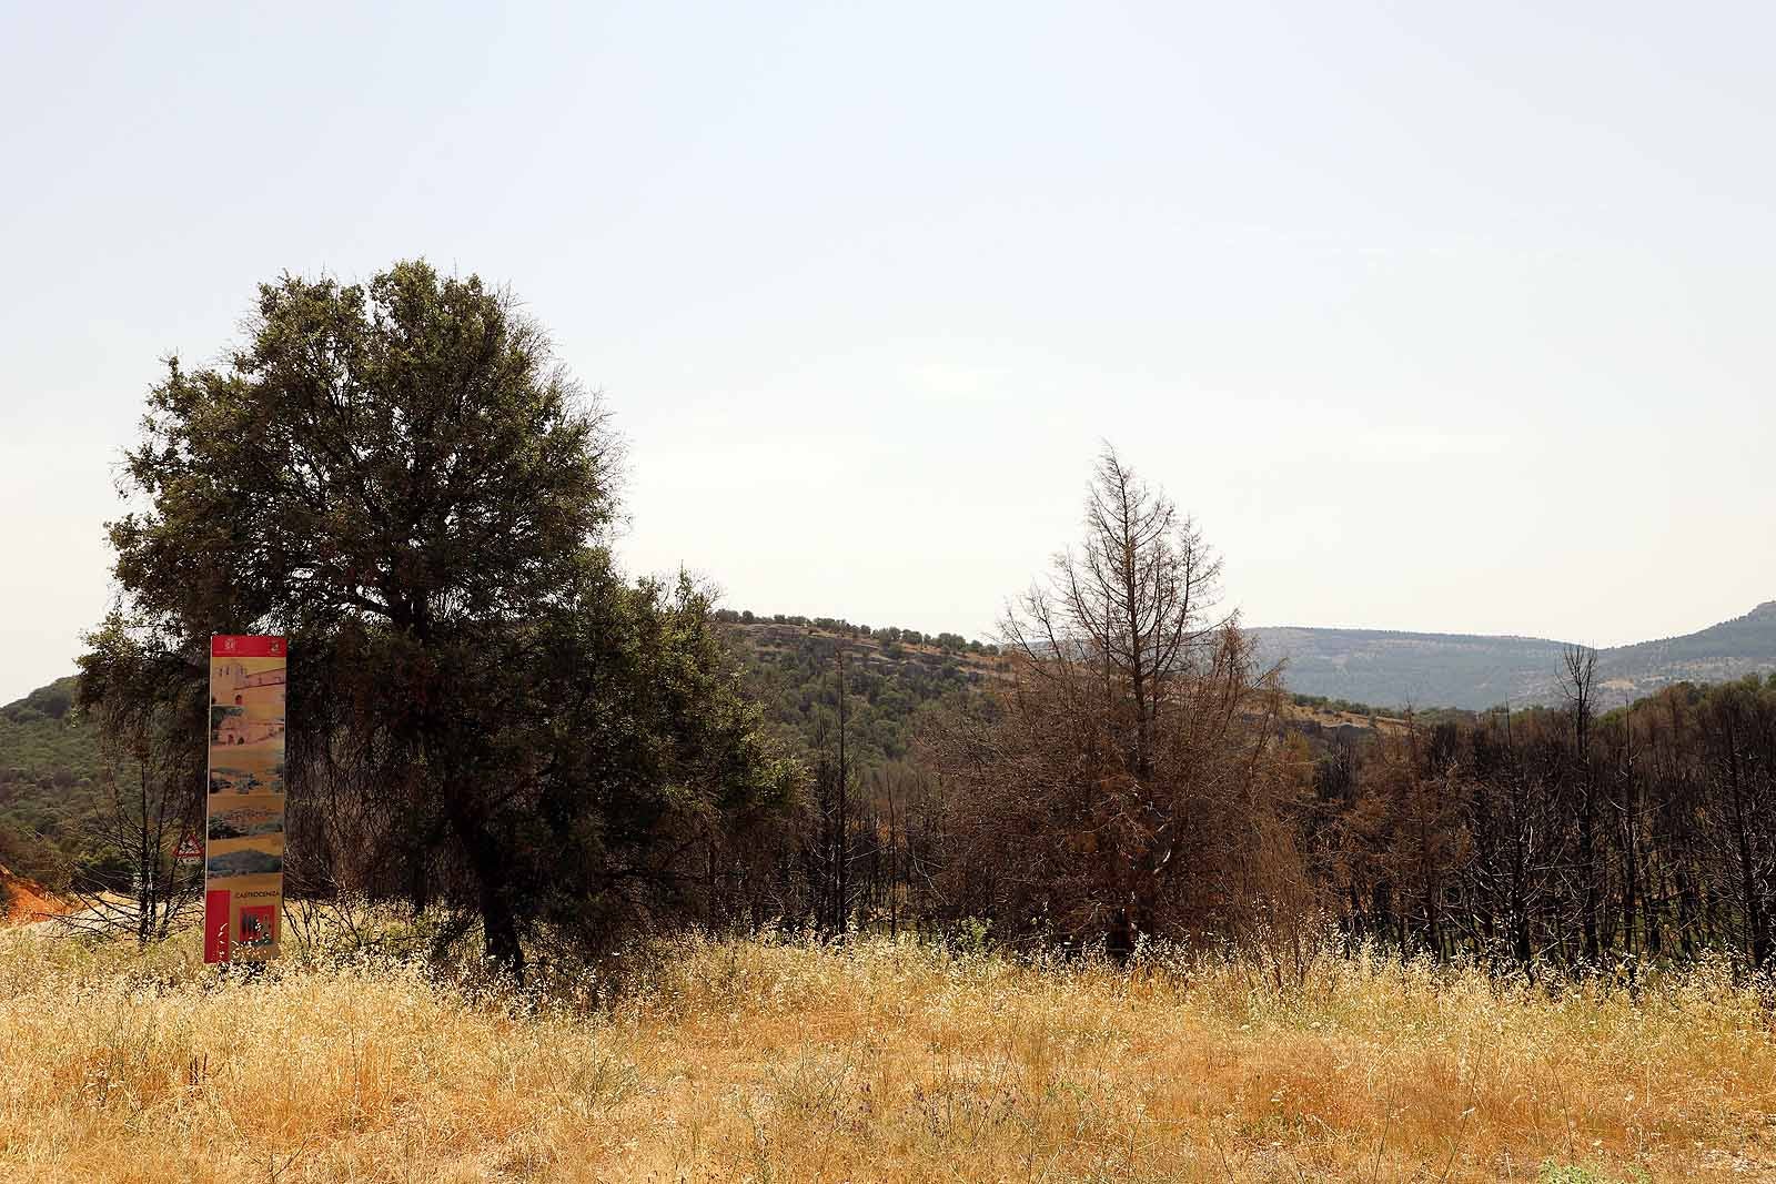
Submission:
<svg viewBox="0 0 1776 1184">
<path fill-rule="evenodd" d="M 1570 643 L 1483 634 L 1405 634 L 1378 628 L 1259 627 L 1261 659 L 1284 660 L 1284 682 L 1376 706 L 1481 710 L 1558 703 L 1561 653 Z M 1629 701 L 1675 682 L 1726 682 L 1776 671 L 1776 600 L 1719 625 L 1597 651 L 1606 701 Z"/>
</svg>

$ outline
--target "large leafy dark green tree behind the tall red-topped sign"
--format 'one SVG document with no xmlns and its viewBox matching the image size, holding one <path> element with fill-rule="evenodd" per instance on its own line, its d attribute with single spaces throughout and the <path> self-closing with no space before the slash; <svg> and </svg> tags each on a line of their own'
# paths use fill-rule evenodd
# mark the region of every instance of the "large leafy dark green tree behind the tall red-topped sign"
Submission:
<svg viewBox="0 0 1776 1184">
<path fill-rule="evenodd" d="M 792 790 L 707 598 L 613 570 L 602 407 L 478 277 L 261 286 L 240 350 L 169 362 L 126 460 L 142 646 L 291 637 L 289 866 L 318 886 L 449 905 L 522 967 L 538 925 L 694 904 Z"/>
</svg>

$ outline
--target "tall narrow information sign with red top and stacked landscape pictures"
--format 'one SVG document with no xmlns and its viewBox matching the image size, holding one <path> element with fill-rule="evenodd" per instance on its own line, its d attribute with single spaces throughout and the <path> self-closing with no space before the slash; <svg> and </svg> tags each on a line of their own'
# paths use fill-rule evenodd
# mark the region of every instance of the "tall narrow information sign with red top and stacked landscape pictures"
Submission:
<svg viewBox="0 0 1776 1184">
<path fill-rule="evenodd" d="M 210 639 L 204 962 L 277 957 L 288 657 L 282 637 Z"/>
</svg>

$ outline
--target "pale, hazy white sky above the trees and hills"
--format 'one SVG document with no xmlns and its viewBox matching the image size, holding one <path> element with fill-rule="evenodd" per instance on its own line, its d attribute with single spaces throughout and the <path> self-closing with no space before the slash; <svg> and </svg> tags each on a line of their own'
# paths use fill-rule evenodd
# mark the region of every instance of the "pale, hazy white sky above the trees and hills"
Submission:
<svg viewBox="0 0 1776 1184">
<path fill-rule="evenodd" d="M 987 637 L 1108 442 L 1252 625 L 1776 598 L 1769 5 L 0 0 L 0 701 L 117 595 L 160 359 L 256 284 L 510 284 L 618 554 Z"/>
</svg>

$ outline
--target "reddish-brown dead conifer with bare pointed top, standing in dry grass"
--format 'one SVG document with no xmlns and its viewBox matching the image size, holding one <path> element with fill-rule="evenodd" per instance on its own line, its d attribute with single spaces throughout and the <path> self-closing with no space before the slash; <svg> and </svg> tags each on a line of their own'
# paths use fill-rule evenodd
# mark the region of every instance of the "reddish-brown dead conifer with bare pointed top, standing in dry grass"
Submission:
<svg viewBox="0 0 1776 1184">
<path fill-rule="evenodd" d="M 932 737 L 959 804 L 952 900 L 1114 951 L 1256 920 L 1291 841 L 1265 825 L 1275 698 L 1215 611 L 1220 563 L 1108 449 L 1083 525 L 1007 611 L 1009 687 Z"/>
</svg>

